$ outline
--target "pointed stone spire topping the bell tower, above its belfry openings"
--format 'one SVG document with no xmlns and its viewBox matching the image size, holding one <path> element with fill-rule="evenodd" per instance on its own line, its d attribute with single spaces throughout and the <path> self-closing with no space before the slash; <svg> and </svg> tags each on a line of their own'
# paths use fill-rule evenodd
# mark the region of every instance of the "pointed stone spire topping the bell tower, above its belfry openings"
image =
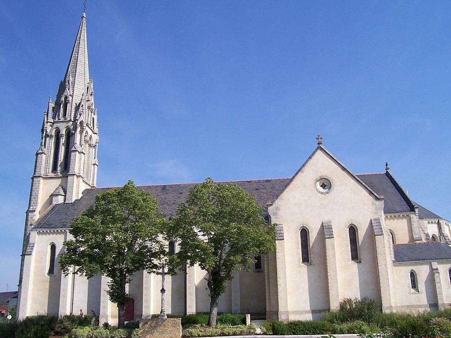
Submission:
<svg viewBox="0 0 451 338">
<path fill-rule="evenodd" d="M 75 107 L 80 104 L 83 94 L 86 96 L 86 88 L 89 84 L 88 47 L 86 41 L 86 14 L 81 17 L 80 27 L 75 38 L 66 74 L 60 86 L 57 104 L 63 100 L 64 94 L 68 94 L 71 102 L 69 116 L 74 116 Z"/>
</svg>

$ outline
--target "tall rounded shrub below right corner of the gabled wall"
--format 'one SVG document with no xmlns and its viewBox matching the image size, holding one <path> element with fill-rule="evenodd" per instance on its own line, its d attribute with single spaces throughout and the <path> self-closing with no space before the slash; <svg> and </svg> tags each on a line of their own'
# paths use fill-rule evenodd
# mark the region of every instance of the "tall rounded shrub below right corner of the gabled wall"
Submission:
<svg viewBox="0 0 451 338">
<path fill-rule="evenodd" d="M 382 312 L 380 305 L 368 297 L 362 299 L 344 298 L 340 301 L 341 321 L 363 320 L 368 323 L 376 322 Z"/>
</svg>

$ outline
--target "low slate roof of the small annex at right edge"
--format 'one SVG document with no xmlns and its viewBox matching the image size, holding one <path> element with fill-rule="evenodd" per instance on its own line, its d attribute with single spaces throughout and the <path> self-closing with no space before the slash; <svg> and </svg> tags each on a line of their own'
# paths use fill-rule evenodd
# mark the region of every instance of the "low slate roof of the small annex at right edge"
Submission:
<svg viewBox="0 0 451 338">
<path fill-rule="evenodd" d="M 394 262 L 451 260 L 451 246 L 444 243 L 394 244 Z"/>
</svg>

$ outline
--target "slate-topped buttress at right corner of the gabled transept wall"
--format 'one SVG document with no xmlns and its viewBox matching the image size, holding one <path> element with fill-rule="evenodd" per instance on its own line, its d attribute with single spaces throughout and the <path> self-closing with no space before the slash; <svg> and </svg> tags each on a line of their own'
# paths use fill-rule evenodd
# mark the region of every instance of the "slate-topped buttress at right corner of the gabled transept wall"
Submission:
<svg viewBox="0 0 451 338">
<path fill-rule="evenodd" d="M 388 250 L 391 248 L 386 247 L 384 231 L 380 218 L 371 218 L 371 224 L 373 227 L 374 242 L 376 246 L 376 260 L 377 260 L 377 272 L 379 277 L 379 292 L 382 302 L 382 311 L 393 311 L 393 299 L 391 297 L 391 283 L 390 273 L 388 271 L 388 261 L 391 261 L 391 255 L 388 254 Z"/>
</svg>

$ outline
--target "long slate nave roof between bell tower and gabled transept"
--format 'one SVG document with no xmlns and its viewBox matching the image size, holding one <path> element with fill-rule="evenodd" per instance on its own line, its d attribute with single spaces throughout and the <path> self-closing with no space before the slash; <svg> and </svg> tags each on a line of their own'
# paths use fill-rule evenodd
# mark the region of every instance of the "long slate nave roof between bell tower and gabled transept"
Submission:
<svg viewBox="0 0 451 338">
<path fill-rule="evenodd" d="M 274 202 L 285 186 L 289 178 L 236 181 L 239 187 L 245 189 L 250 195 L 256 197 L 256 202 L 266 210 L 268 201 Z M 226 182 L 223 182 L 226 183 Z M 160 211 L 165 217 L 175 215 L 179 203 L 183 203 L 191 186 L 198 183 L 166 184 L 140 186 L 139 189 L 150 191 L 158 201 Z M 98 193 L 112 188 L 95 188 L 83 191 L 83 196 L 73 203 L 62 203 L 53 207 L 44 216 L 34 229 L 65 229 L 69 228 L 72 220 L 89 206 L 94 205 Z M 262 216 L 266 216 L 265 214 Z"/>
</svg>

